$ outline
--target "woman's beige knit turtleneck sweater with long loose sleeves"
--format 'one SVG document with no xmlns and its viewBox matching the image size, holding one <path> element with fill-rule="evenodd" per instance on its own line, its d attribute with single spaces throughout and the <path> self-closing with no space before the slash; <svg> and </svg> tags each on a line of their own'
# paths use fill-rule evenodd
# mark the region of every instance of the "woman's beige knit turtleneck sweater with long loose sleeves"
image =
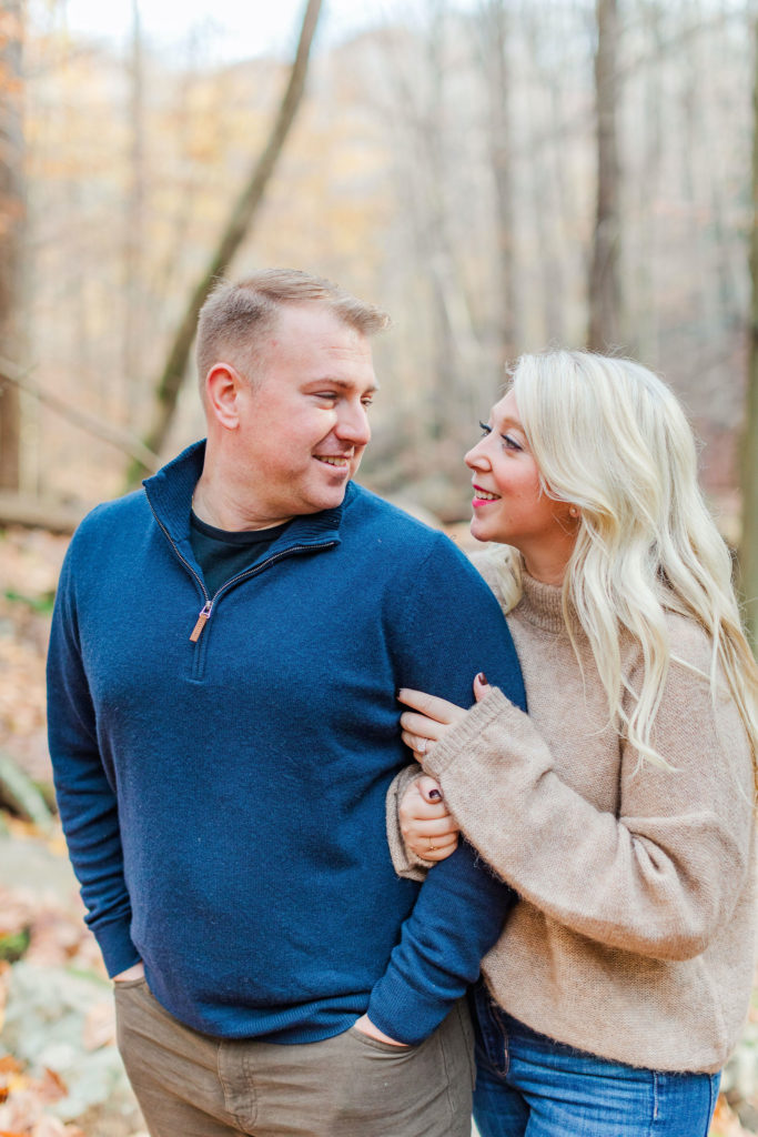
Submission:
<svg viewBox="0 0 758 1137">
<path fill-rule="evenodd" d="M 716 1071 L 753 972 L 752 772 L 738 713 L 673 661 L 653 745 L 676 769 L 641 766 L 608 725 L 585 640 L 582 677 L 559 589 L 527 578 L 508 625 L 528 716 L 493 689 L 425 760 L 463 831 L 520 897 L 482 964 L 490 991 L 534 1030 L 593 1054 Z M 677 615 L 669 631 L 673 655 L 707 673 L 705 633 Z M 626 645 L 624 658 L 635 687 L 639 649 Z M 415 875 L 394 808 L 408 780 L 388 816 L 395 868 Z"/>
</svg>

